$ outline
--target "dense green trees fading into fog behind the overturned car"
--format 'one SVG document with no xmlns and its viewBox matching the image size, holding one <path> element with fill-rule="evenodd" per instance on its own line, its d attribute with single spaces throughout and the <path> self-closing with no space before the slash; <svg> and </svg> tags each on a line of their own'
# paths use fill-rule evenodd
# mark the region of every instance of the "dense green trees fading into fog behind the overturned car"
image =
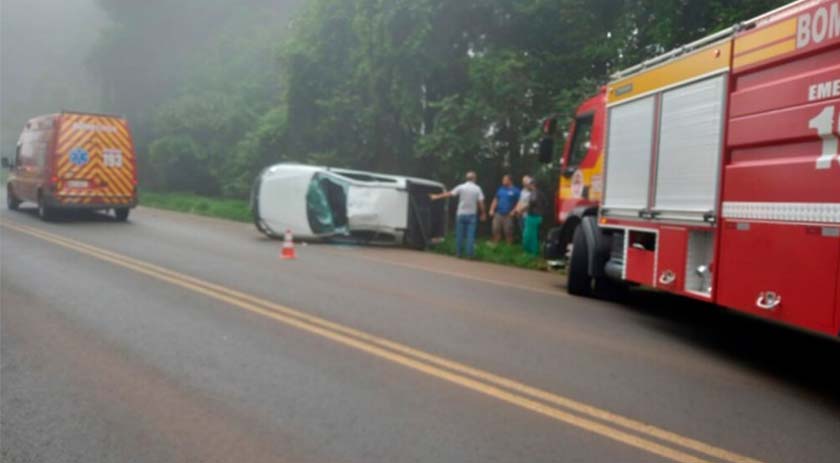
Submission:
<svg viewBox="0 0 840 463">
<path fill-rule="evenodd" d="M 90 65 L 132 119 L 143 183 L 234 197 L 282 160 L 488 186 L 536 171 L 542 117 L 783 3 L 308 0 L 291 19 L 298 1 L 100 2 L 114 24 Z"/>
</svg>

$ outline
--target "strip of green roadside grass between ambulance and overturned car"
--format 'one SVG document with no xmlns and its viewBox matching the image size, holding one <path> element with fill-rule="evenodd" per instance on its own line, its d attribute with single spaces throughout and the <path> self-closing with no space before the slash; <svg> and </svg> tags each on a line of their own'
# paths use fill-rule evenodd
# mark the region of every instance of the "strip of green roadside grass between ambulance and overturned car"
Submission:
<svg viewBox="0 0 840 463">
<path fill-rule="evenodd" d="M 191 193 L 140 192 L 140 205 L 188 214 L 251 222 L 251 208 L 244 199 L 210 198 Z"/>
</svg>

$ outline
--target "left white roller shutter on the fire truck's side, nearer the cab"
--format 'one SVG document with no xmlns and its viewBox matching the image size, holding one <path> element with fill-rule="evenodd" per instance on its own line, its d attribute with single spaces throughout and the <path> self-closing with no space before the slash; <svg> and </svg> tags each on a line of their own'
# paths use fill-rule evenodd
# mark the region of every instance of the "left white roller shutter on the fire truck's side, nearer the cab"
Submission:
<svg viewBox="0 0 840 463">
<path fill-rule="evenodd" d="M 610 109 L 604 208 L 635 216 L 648 206 L 654 97 Z"/>
</svg>

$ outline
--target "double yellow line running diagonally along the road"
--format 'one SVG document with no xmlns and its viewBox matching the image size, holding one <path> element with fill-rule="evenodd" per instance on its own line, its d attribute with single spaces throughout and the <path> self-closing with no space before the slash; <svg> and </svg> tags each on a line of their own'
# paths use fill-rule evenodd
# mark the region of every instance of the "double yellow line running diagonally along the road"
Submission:
<svg viewBox="0 0 840 463">
<path fill-rule="evenodd" d="M 148 262 L 25 225 L 3 222 L 0 226 L 226 302 L 238 309 L 672 461 L 760 463 L 753 458 Z"/>
</svg>

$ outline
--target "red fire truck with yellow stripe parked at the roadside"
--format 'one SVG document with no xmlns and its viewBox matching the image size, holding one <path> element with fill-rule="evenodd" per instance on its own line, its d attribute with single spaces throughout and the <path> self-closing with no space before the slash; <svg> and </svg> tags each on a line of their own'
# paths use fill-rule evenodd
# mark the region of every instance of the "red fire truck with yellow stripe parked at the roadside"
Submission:
<svg viewBox="0 0 840 463">
<path fill-rule="evenodd" d="M 840 335 L 838 145 L 840 0 L 616 74 L 563 152 L 569 292 L 643 285 Z"/>
</svg>

